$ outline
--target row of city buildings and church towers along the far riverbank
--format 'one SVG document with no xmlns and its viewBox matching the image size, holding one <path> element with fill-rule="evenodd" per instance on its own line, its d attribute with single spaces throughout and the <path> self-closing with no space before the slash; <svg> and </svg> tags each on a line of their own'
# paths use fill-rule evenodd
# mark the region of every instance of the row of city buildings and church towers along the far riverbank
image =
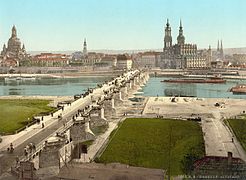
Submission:
<svg viewBox="0 0 246 180">
<path fill-rule="evenodd" d="M 165 69 L 210 69 L 223 67 L 224 53 L 222 41 L 218 41 L 216 51 L 208 49 L 199 50 L 196 44 L 185 43 L 182 22 L 179 25 L 177 43 L 173 44 L 172 31 L 167 20 L 164 34 L 164 47 L 162 52 L 148 51 L 128 54 L 104 54 L 87 51 L 87 42 L 84 40 L 82 51 L 72 55 L 41 53 L 29 55 L 25 45 L 17 37 L 16 27 L 13 26 L 11 37 L 7 46 L 3 45 L 0 55 L 0 66 L 93 66 L 101 69 L 131 69 L 131 68 L 165 68 Z M 234 55 L 233 59 L 245 62 L 246 55 Z"/>
</svg>

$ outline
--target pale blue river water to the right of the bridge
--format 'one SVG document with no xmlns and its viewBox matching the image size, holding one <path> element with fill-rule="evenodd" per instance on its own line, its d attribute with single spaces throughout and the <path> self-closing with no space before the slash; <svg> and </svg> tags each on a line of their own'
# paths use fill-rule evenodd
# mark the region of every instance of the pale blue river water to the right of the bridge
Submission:
<svg viewBox="0 0 246 180">
<path fill-rule="evenodd" d="M 140 91 L 144 96 L 166 96 L 171 92 L 181 92 L 182 95 L 200 98 L 236 98 L 246 99 L 246 95 L 233 95 L 228 90 L 237 84 L 246 84 L 246 80 L 227 79 L 224 84 L 208 83 L 167 83 L 166 77 L 151 77 L 146 86 Z"/>
</svg>

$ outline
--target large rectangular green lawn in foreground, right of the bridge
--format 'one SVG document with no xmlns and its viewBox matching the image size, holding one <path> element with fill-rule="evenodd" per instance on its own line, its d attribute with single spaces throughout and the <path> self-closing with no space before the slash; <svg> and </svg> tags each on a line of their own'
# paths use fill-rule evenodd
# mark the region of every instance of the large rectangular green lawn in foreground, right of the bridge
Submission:
<svg viewBox="0 0 246 180">
<path fill-rule="evenodd" d="M 132 166 L 183 174 L 181 161 L 190 151 L 204 156 L 202 130 L 197 122 L 167 119 L 126 119 L 98 158 L 99 162 L 120 162 Z M 169 156 L 170 154 L 170 156 Z"/>
</svg>

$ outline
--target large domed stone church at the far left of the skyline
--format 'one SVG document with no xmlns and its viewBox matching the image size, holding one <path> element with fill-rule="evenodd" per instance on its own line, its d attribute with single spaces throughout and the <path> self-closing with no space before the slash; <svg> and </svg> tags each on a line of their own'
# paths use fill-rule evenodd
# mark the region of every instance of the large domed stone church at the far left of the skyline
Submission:
<svg viewBox="0 0 246 180">
<path fill-rule="evenodd" d="M 16 27 L 13 26 L 11 37 L 8 40 L 8 45 L 3 45 L 0 61 L 1 66 L 19 66 L 20 61 L 27 57 L 25 45 L 21 46 L 21 41 L 17 37 Z"/>
</svg>

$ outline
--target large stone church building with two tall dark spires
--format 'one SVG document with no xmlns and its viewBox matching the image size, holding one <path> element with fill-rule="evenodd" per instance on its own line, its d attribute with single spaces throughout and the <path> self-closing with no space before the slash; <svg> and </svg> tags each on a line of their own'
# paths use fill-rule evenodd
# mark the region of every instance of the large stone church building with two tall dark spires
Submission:
<svg viewBox="0 0 246 180">
<path fill-rule="evenodd" d="M 186 44 L 183 26 L 180 21 L 177 44 L 173 45 L 171 26 L 167 20 L 164 36 L 164 48 L 159 61 L 161 68 L 167 69 L 207 69 L 210 68 L 211 48 L 198 50 L 196 44 Z"/>
</svg>

